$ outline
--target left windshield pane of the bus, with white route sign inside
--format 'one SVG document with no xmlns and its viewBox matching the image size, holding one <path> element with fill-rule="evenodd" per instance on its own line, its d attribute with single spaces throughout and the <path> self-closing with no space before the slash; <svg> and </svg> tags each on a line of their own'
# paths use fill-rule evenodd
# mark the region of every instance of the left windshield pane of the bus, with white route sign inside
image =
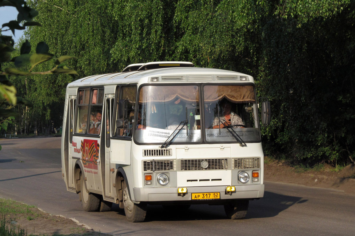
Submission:
<svg viewBox="0 0 355 236">
<path fill-rule="evenodd" d="M 137 142 L 164 143 L 170 136 L 174 137 L 175 132 L 178 134 L 172 143 L 201 142 L 199 104 L 196 85 L 141 87 L 135 133 Z"/>
</svg>

